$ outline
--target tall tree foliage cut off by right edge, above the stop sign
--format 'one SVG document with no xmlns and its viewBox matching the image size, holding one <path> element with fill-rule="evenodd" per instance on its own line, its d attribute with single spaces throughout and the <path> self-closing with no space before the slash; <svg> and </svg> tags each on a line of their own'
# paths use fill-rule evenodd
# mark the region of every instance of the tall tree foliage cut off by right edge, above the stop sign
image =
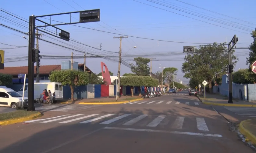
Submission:
<svg viewBox="0 0 256 153">
<path fill-rule="evenodd" d="M 249 47 L 249 57 L 246 58 L 246 65 L 249 66 L 249 72 L 251 77 L 254 78 L 254 83 L 256 82 L 256 74 L 253 73 L 251 71 L 251 65 L 253 64 L 253 62 L 256 61 L 256 28 L 254 31 L 252 31 L 251 33 L 251 37 L 253 38 L 253 42 L 251 43 L 250 47 Z"/>
</svg>

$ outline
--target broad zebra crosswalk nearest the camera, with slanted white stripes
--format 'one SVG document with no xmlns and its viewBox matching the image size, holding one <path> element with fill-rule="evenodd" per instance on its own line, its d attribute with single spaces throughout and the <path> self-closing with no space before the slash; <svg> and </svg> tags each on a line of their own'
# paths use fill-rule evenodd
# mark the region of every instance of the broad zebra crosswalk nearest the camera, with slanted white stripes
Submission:
<svg viewBox="0 0 256 153">
<path fill-rule="evenodd" d="M 151 127 L 155 128 L 158 125 L 160 125 L 161 122 L 165 122 L 164 125 L 165 127 L 169 127 L 172 129 L 183 129 L 184 126 L 184 121 L 186 121 L 186 117 L 184 116 L 177 116 L 176 118 L 167 118 L 166 115 L 133 115 L 133 114 L 123 114 L 123 115 L 117 115 L 117 114 L 105 114 L 105 115 L 100 115 L 100 114 L 91 114 L 91 115 L 85 115 L 85 114 L 76 114 L 76 115 L 60 115 L 52 118 L 43 118 L 43 119 L 35 119 L 31 121 L 25 121 L 25 123 L 48 123 L 52 124 L 53 122 L 61 123 L 61 124 L 67 124 L 67 123 L 76 123 L 76 124 L 86 124 L 98 120 L 99 124 L 102 125 L 108 125 L 108 124 L 119 124 L 122 126 L 137 126 L 140 124 L 140 122 L 145 122 L 147 121 L 147 124 L 143 124 L 143 126 L 146 127 Z M 112 117 L 113 116 L 113 117 Z M 88 118 L 88 119 L 87 119 Z M 108 118 L 108 119 L 105 119 Z M 165 120 L 166 118 L 166 120 Z M 83 119 L 87 119 L 84 120 Z M 59 122 L 62 120 L 61 122 Z M 81 121 L 82 120 L 82 121 Z M 165 121 L 163 121 L 165 120 Z M 191 119 L 188 119 L 189 121 Z M 78 123 L 76 121 L 79 121 Z M 166 121 L 170 125 L 166 125 Z M 206 122 L 204 118 L 195 118 L 194 123 L 189 123 L 185 124 L 187 127 L 185 128 L 191 128 L 191 126 L 194 126 L 194 128 L 197 128 L 200 131 L 209 131 L 208 126 L 206 125 Z"/>
</svg>

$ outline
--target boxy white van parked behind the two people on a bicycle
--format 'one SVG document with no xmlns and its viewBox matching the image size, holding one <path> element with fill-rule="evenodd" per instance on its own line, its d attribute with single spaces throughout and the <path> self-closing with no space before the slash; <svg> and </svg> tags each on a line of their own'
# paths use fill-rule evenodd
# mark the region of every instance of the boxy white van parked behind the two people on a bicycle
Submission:
<svg viewBox="0 0 256 153">
<path fill-rule="evenodd" d="M 28 96 L 28 89 L 27 89 L 28 83 L 25 84 L 25 92 L 24 97 Z M 42 83 L 34 83 L 34 99 L 40 98 L 40 95 L 43 93 L 43 90 L 47 89 L 51 90 L 52 92 L 52 100 L 63 100 L 63 87 L 62 84 L 59 82 L 42 82 Z M 20 91 L 18 92 L 21 95 L 23 94 L 23 87 L 20 88 Z"/>
</svg>

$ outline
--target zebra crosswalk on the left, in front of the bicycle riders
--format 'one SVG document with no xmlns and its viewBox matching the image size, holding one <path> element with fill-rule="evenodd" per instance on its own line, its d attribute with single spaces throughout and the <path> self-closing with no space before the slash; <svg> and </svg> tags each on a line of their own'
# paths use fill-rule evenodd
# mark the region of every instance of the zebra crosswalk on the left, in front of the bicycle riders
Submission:
<svg viewBox="0 0 256 153">
<path fill-rule="evenodd" d="M 43 105 L 36 106 L 36 111 L 76 111 L 91 107 L 98 107 L 99 105 L 80 105 L 80 104 L 56 104 L 56 105 Z"/>
</svg>

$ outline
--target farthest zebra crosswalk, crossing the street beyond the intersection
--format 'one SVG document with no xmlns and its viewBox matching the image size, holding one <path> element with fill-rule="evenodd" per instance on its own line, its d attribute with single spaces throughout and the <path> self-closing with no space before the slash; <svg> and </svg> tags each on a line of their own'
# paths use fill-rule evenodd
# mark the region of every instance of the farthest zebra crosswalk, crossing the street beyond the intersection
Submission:
<svg viewBox="0 0 256 153">
<path fill-rule="evenodd" d="M 131 104 L 186 104 L 186 105 L 199 105 L 199 102 L 180 102 L 180 101 L 134 101 L 128 102 L 121 105 L 131 105 Z"/>
</svg>

